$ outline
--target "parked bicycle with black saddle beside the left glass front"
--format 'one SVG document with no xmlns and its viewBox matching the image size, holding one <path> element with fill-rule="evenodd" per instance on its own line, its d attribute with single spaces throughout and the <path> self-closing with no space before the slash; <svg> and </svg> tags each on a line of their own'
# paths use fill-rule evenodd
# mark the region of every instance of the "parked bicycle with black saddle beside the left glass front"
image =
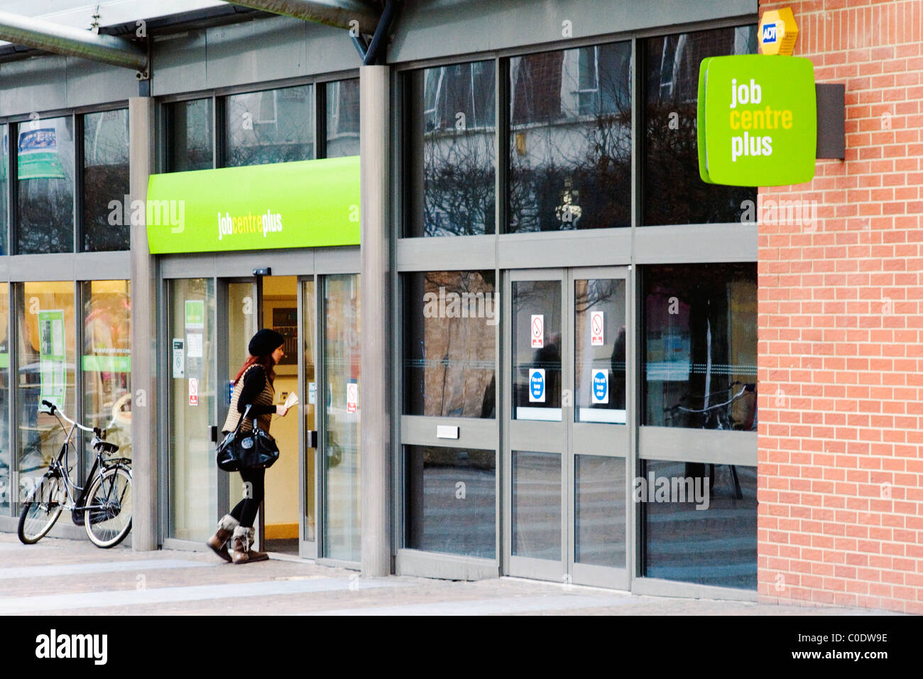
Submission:
<svg viewBox="0 0 923 679">
<path fill-rule="evenodd" d="M 111 456 L 118 451 L 118 446 L 102 440 L 104 430 L 84 427 L 48 401 L 42 401 L 42 406 L 48 407 L 48 411 L 42 410 L 42 413 L 57 418 L 66 437 L 48 470 L 23 503 L 19 515 L 19 541 L 35 544 L 42 540 L 62 512 L 68 510 L 74 523 L 86 528 L 90 542 L 102 549 L 114 547 L 131 531 L 131 460 Z M 69 431 L 62 418 L 70 424 Z M 87 475 L 89 483 L 83 487 L 70 479 L 67 466 L 71 439 L 78 429 L 93 434 L 91 445 L 96 451 L 96 461 Z"/>
</svg>

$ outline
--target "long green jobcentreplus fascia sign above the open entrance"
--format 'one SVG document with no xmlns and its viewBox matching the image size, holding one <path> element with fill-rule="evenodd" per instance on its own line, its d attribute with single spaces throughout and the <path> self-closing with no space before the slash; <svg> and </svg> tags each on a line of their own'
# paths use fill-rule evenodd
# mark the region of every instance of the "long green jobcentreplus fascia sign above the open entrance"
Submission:
<svg viewBox="0 0 923 679">
<path fill-rule="evenodd" d="M 154 254 L 358 245 L 359 156 L 153 175 L 140 207 Z"/>
</svg>

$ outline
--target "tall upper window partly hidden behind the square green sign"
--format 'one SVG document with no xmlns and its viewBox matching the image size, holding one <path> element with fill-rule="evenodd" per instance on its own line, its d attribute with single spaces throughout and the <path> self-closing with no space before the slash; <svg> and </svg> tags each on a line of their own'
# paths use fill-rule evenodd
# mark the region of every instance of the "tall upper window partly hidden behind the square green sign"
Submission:
<svg viewBox="0 0 923 679">
<path fill-rule="evenodd" d="M 642 224 L 741 221 L 756 188 L 705 184 L 699 177 L 699 67 L 708 56 L 756 54 L 756 27 L 649 38 L 644 116 Z"/>
</svg>

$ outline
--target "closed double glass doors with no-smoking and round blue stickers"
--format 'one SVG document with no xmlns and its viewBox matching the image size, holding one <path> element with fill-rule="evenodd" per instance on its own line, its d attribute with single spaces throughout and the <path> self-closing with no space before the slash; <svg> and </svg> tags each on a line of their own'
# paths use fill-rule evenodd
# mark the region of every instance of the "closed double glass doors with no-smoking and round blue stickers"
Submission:
<svg viewBox="0 0 923 679">
<path fill-rule="evenodd" d="M 509 575 L 628 587 L 625 275 L 509 273 Z"/>
</svg>

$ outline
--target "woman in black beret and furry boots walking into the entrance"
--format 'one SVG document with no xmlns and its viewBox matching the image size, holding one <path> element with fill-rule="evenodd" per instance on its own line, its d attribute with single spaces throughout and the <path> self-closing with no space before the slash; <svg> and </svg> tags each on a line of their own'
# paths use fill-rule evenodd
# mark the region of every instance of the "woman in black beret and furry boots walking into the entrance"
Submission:
<svg viewBox="0 0 923 679">
<path fill-rule="evenodd" d="M 237 427 L 246 406 L 251 407 L 247 418 L 241 424 L 242 431 L 253 429 L 251 420 L 256 418 L 260 429 L 268 432 L 273 413 L 285 417 L 288 408 L 272 405 L 275 400 L 272 382 L 276 377 L 272 367 L 285 355 L 282 350 L 284 342 L 281 334 L 269 328 L 263 328 L 253 335 L 248 347 L 250 356 L 234 378 L 234 393 L 231 396 L 228 417 L 224 421 L 224 434 Z M 257 517 L 259 503 L 263 501 L 265 474 L 265 469 L 240 470 L 246 489 L 245 497 L 231 510 L 231 514 L 222 516 L 218 522 L 217 532 L 206 543 L 224 561 L 248 564 L 251 561 L 265 561 L 270 558 L 266 552 L 254 552 L 250 549 L 254 537 L 253 521 Z M 228 540 L 231 540 L 233 556 L 228 554 L 226 549 Z"/>
</svg>

